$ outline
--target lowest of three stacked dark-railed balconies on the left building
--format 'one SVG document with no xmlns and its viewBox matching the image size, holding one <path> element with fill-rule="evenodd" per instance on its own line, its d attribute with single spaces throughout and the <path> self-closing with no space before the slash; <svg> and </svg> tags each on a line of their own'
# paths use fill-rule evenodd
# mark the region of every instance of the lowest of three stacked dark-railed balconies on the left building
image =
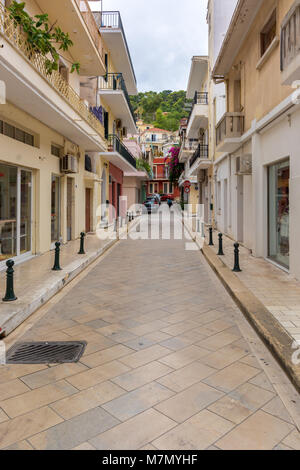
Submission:
<svg viewBox="0 0 300 470">
<path fill-rule="evenodd" d="M 117 135 L 108 136 L 108 152 L 101 155 L 123 172 L 136 172 L 136 159 Z"/>
</svg>

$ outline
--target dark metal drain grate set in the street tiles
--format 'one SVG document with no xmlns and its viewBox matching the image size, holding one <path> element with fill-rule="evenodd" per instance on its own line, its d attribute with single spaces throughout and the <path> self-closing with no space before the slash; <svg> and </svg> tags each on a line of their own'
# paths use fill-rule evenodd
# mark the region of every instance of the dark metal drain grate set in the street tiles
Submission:
<svg viewBox="0 0 300 470">
<path fill-rule="evenodd" d="M 7 364 L 62 364 L 78 362 L 86 341 L 16 343 L 6 354 Z"/>
</svg>

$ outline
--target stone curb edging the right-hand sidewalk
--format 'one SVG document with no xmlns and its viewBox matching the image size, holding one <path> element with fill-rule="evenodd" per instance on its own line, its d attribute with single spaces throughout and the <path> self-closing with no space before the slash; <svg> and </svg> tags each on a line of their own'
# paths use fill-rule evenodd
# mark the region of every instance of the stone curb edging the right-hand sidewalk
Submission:
<svg viewBox="0 0 300 470">
<path fill-rule="evenodd" d="M 191 234 L 190 227 L 187 224 L 184 225 Z M 197 236 L 194 241 L 227 292 L 271 351 L 295 386 L 297 392 L 300 393 L 300 366 L 292 362 L 292 355 L 295 351 L 293 348 L 293 338 L 264 304 L 245 286 L 238 276 L 223 263 L 206 243 L 201 247 L 198 243 Z"/>
</svg>

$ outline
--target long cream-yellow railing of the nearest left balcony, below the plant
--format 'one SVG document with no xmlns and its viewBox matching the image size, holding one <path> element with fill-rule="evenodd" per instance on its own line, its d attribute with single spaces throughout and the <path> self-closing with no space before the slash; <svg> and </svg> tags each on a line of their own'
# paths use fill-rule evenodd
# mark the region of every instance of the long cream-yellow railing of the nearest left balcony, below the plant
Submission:
<svg viewBox="0 0 300 470">
<path fill-rule="evenodd" d="M 19 53 L 35 68 L 35 70 L 51 85 L 78 114 L 87 121 L 90 126 L 104 138 L 104 126 L 90 112 L 89 107 L 84 103 L 75 90 L 66 82 L 62 75 L 54 70 L 48 73 L 45 61 L 46 58 L 35 51 L 28 43 L 27 36 L 20 25 L 11 18 L 9 11 L 0 3 L 0 35 L 17 49 Z"/>
</svg>

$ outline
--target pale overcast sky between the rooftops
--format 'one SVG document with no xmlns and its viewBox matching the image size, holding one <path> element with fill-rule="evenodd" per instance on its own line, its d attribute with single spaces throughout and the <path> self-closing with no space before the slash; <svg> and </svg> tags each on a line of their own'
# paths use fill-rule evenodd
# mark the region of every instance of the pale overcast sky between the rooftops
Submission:
<svg viewBox="0 0 300 470">
<path fill-rule="evenodd" d="M 207 0 L 103 0 L 119 10 L 139 91 L 185 90 L 193 55 L 207 54 Z"/>
</svg>

